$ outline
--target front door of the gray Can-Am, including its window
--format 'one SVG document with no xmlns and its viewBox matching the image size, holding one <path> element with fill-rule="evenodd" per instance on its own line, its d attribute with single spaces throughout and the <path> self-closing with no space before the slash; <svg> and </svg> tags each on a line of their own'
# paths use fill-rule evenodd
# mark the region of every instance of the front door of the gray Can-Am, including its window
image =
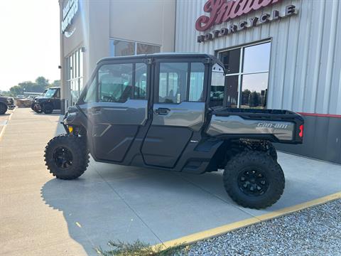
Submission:
<svg viewBox="0 0 341 256">
<path fill-rule="evenodd" d="M 146 124 L 147 70 L 143 60 L 116 60 L 97 68 L 80 103 L 89 122 L 88 138 L 96 159 L 124 161 L 139 128 Z"/>
</svg>

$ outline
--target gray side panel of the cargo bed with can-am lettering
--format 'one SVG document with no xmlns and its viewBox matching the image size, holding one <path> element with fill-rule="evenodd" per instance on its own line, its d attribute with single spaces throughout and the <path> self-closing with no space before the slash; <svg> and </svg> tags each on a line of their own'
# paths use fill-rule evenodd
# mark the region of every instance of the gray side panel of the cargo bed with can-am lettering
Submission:
<svg viewBox="0 0 341 256">
<path fill-rule="evenodd" d="M 212 137 L 228 134 L 274 134 L 278 139 L 288 141 L 293 139 L 294 132 L 294 122 L 244 119 L 237 115 L 220 117 L 215 114 L 212 115 L 206 131 Z"/>
</svg>

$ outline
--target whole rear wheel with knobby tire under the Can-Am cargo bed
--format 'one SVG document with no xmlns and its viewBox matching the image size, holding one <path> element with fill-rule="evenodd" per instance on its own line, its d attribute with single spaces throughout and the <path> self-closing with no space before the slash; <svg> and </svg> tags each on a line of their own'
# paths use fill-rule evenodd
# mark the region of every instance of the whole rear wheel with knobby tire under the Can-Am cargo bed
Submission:
<svg viewBox="0 0 341 256">
<path fill-rule="evenodd" d="M 266 152 L 243 151 L 229 160 L 224 187 L 233 201 L 247 208 L 272 206 L 283 193 L 281 166 Z"/>
</svg>

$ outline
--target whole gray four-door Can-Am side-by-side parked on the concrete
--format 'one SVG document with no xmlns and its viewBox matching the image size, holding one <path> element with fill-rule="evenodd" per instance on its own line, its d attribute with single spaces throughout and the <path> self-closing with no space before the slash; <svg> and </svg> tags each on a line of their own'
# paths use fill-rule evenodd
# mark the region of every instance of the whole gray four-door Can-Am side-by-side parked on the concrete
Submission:
<svg viewBox="0 0 341 256">
<path fill-rule="evenodd" d="M 227 107 L 224 84 L 224 66 L 212 55 L 99 60 L 65 114 L 67 134 L 48 142 L 46 165 L 57 178 L 77 178 L 90 152 L 95 161 L 125 166 L 192 174 L 224 169 L 235 202 L 271 206 L 285 183 L 271 142 L 301 144 L 303 119 L 287 110 Z"/>
</svg>

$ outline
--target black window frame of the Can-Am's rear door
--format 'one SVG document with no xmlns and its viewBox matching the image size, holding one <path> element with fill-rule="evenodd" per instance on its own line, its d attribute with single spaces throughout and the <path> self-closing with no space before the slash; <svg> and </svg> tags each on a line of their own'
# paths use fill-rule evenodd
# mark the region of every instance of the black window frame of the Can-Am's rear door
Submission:
<svg viewBox="0 0 341 256">
<path fill-rule="evenodd" d="M 185 100 L 178 102 L 159 102 L 159 92 L 160 92 L 160 64 L 161 63 L 187 63 L 187 79 L 186 79 L 186 97 Z M 202 99 L 200 101 L 190 101 L 190 70 L 191 63 L 202 63 L 204 65 L 204 79 L 202 85 Z M 155 65 L 155 81 L 154 82 L 154 92 L 153 92 L 153 102 L 155 104 L 172 104 L 179 105 L 181 102 L 206 102 L 207 98 L 207 88 L 205 88 L 205 82 L 207 81 L 208 74 L 208 63 L 205 63 L 202 59 L 198 58 L 164 58 L 162 60 L 156 60 Z"/>
</svg>

